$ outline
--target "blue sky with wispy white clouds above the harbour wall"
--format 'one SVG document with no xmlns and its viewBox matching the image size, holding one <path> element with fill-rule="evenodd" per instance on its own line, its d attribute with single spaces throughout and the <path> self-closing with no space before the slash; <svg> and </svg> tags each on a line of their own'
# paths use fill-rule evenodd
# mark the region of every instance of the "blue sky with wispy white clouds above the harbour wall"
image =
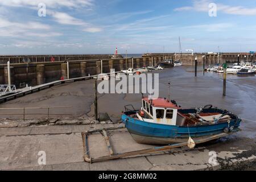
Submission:
<svg viewBox="0 0 256 182">
<path fill-rule="evenodd" d="M 182 52 L 256 51 L 256 0 L 0 0 L 0 55 L 179 52 L 179 36 Z"/>
</svg>

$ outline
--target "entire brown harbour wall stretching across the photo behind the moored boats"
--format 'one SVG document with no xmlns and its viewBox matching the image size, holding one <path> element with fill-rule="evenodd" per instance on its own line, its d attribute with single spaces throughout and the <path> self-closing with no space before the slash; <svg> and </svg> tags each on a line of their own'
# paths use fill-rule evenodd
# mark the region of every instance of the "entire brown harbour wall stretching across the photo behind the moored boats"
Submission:
<svg viewBox="0 0 256 182">
<path fill-rule="evenodd" d="M 238 55 L 240 56 L 240 61 L 244 61 L 247 58 L 241 53 L 230 53 L 230 54 L 205 54 L 205 65 L 209 64 L 222 64 L 222 63 L 235 63 L 237 62 Z M 203 64 L 204 54 L 183 54 L 183 64 L 193 65 L 195 63 L 195 56 L 197 57 L 198 64 Z M 123 69 L 132 68 L 142 68 L 151 65 L 157 65 L 160 61 L 164 59 L 180 59 L 180 55 L 175 55 L 174 53 L 169 54 L 154 54 L 154 55 L 143 55 L 139 58 L 128 58 L 118 59 L 103 59 L 102 60 L 102 71 L 103 73 L 109 73 L 110 69 L 115 69 L 115 71 L 121 71 Z M 88 75 L 98 75 L 101 73 L 101 60 L 70 60 L 69 62 L 69 78 L 84 77 Z M 41 85 L 47 82 L 67 79 L 67 61 L 46 61 L 37 63 L 14 63 L 11 64 L 11 82 L 16 85 L 17 88 L 23 87 L 28 84 L 31 86 Z M 0 84 L 7 84 L 8 74 L 7 74 L 7 64 L 0 64 Z"/>
</svg>

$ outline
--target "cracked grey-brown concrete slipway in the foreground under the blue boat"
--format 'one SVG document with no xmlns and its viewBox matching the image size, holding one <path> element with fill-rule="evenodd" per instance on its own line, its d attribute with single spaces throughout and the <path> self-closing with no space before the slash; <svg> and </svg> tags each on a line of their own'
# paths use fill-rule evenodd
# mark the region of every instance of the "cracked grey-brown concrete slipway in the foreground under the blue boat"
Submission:
<svg viewBox="0 0 256 182">
<path fill-rule="evenodd" d="M 255 167 L 255 147 L 247 138 L 225 138 L 228 142 L 207 143 L 195 150 L 175 150 L 137 155 L 100 163 L 85 163 L 82 159 L 81 132 L 118 125 L 43 126 L 0 129 L 1 170 L 226 170 Z M 13 130 L 13 131 L 12 131 Z M 126 131 L 109 132 L 115 154 L 143 150 L 153 146 L 136 143 Z M 90 135 L 89 152 L 92 158 L 109 155 L 101 134 Z M 245 141 L 247 141 L 245 143 Z M 243 145 L 241 145 L 243 143 Z M 218 151 L 220 150 L 221 151 Z M 209 151 L 217 151 L 217 164 L 209 164 Z M 38 164 L 38 152 L 46 152 L 46 165 Z"/>
</svg>

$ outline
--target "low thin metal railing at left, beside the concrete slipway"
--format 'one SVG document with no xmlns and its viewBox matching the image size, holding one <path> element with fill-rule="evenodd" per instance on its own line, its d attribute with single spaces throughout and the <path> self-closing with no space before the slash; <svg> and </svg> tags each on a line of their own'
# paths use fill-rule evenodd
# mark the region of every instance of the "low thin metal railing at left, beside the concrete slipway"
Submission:
<svg viewBox="0 0 256 182">
<path fill-rule="evenodd" d="M 22 113 L 5 113 L 0 115 L 23 115 L 23 121 L 26 120 L 26 115 L 47 115 L 47 120 L 49 121 L 51 115 L 72 115 L 72 114 L 57 114 L 51 113 L 50 109 L 64 109 L 64 108 L 71 108 L 72 106 L 59 106 L 59 107 L 19 107 L 19 108 L 0 108 L 1 110 L 22 110 Z M 33 109 L 44 109 L 47 110 L 47 113 L 26 113 L 26 110 L 33 110 Z M 19 118 L 21 119 L 21 118 Z M 32 118 L 29 118 L 32 119 Z M 35 118 L 34 118 L 35 119 Z"/>
</svg>

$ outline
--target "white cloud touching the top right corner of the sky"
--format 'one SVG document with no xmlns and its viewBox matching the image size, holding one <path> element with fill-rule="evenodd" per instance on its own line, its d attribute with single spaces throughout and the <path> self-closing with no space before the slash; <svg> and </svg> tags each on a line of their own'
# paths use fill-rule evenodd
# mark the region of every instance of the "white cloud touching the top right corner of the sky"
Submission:
<svg viewBox="0 0 256 182">
<path fill-rule="evenodd" d="M 212 3 L 212 1 L 209 0 L 194 0 L 192 6 L 184 6 L 184 7 L 178 7 L 174 9 L 174 11 L 188 11 L 188 10 L 194 10 L 194 11 L 209 11 L 209 3 Z M 256 7 L 254 8 L 246 8 L 243 6 L 229 6 L 224 5 L 222 3 L 216 3 L 217 5 L 217 11 L 220 11 L 225 14 L 232 14 L 232 15 L 256 15 Z"/>
</svg>

